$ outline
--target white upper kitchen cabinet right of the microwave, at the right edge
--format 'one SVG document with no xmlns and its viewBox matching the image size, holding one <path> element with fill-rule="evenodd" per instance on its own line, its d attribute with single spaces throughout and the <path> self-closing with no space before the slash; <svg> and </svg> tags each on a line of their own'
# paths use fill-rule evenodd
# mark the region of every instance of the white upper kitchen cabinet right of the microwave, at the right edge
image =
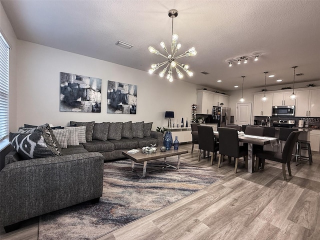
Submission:
<svg viewBox="0 0 320 240">
<path fill-rule="evenodd" d="M 320 88 L 296 91 L 295 116 L 320 116 Z"/>
</svg>

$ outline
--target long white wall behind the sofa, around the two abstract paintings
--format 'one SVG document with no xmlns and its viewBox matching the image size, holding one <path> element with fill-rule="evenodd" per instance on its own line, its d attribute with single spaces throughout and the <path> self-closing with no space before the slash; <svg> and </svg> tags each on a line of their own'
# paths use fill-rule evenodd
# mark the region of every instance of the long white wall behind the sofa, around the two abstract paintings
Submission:
<svg viewBox="0 0 320 240">
<path fill-rule="evenodd" d="M 68 72 L 102 79 L 101 112 L 59 111 L 59 73 Z M 68 121 L 153 121 L 166 126 L 164 111 L 174 111 L 174 122 L 191 119 L 191 105 L 196 103 L 196 89 L 201 86 L 173 80 L 158 74 L 74 54 L 55 48 L 18 40 L 17 123 L 67 125 Z M 136 114 L 106 113 L 107 80 L 137 85 Z"/>
</svg>

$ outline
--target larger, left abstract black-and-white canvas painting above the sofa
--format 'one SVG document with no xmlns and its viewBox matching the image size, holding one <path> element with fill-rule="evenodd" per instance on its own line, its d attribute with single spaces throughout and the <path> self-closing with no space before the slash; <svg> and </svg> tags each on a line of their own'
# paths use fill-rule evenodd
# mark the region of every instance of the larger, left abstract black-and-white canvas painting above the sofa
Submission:
<svg viewBox="0 0 320 240">
<path fill-rule="evenodd" d="M 101 112 L 101 79 L 60 72 L 60 111 Z"/>
</svg>

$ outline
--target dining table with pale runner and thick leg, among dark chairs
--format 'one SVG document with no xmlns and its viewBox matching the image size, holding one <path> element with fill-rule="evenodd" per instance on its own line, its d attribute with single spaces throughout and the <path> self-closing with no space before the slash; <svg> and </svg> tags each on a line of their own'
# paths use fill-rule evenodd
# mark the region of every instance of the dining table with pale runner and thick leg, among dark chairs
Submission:
<svg viewBox="0 0 320 240">
<path fill-rule="evenodd" d="M 218 138 L 219 132 L 213 131 L 213 135 Z M 252 153 L 252 145 L 267 145 L 271 144 L 271 146 L 275 146 L 278 144 L 278 138 L 277 137 L 270 137 L 270 136 L 256 136 L 256 135 L 248 135 L 248 134 L 238 134 L 238 138 L 240 142 L 246 142 L 248 143 L 248 164 L 247 164 L 247 171 L 249 173 L 253 172 L 254 168 L 254 157 Z"/>
</svg>

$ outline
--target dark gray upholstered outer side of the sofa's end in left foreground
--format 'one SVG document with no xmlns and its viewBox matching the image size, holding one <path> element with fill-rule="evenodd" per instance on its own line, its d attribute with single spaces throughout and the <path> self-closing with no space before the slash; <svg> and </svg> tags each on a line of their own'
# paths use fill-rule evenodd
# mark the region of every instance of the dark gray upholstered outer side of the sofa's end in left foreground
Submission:
<svg viewBox="0 0 320 240">
<path fill-rule="evenodd" d="M 102 195 L 103 156 L 98 152 L 12 162 L 0 171 L 2 226 Z"/>
</svg>

